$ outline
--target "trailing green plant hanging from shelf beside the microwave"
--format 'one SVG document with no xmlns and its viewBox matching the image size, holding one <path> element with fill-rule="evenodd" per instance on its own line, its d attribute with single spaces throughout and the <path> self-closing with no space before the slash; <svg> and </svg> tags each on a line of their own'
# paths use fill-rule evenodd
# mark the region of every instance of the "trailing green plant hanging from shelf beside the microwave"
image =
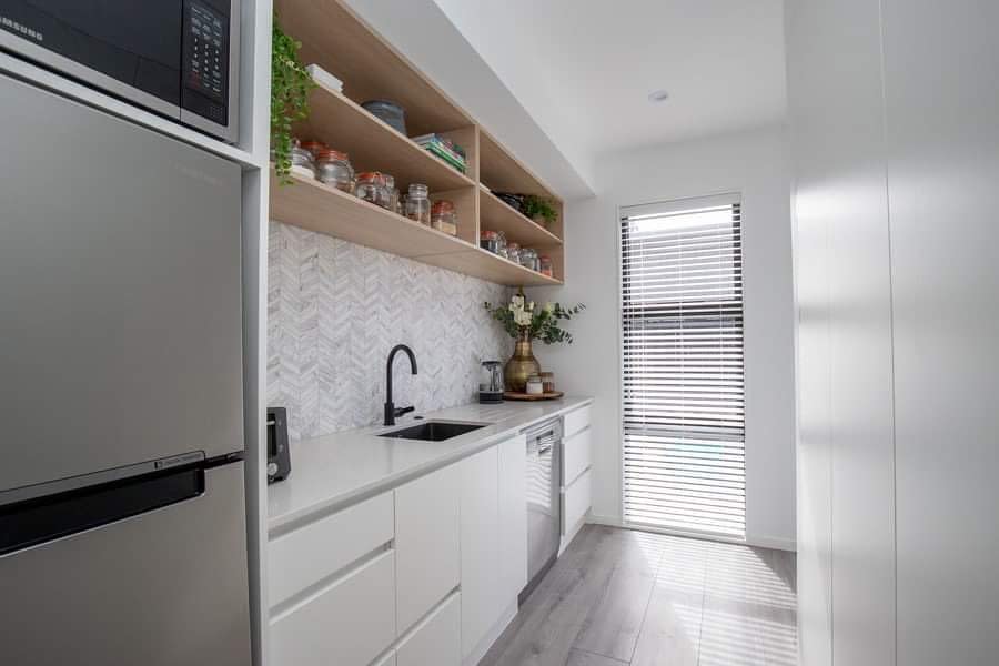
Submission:
<svg viewBox="0 0 999 666">
<path fill-rule="evenodd" d="M 271 34 L 271 154 L 279 182 L 291 184 L 292 123 L 309 117 L 309 93 L 315 88 L 312 77 L 299 60 L 302 42 L 281 29 L 278 14 Z"/>
</svg>

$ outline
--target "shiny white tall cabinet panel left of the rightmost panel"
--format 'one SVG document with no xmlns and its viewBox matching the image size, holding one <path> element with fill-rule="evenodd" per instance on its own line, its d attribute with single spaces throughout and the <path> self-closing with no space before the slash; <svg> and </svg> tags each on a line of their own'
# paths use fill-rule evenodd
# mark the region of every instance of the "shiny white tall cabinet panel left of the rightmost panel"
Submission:
<svg viewBox="0 0 999 666">
<path fill-rule="evenodd" d="M 878 6 L 808 0 L 787 10 L 803 663 L 887 666 L 891 284 Z"/>
</svg>

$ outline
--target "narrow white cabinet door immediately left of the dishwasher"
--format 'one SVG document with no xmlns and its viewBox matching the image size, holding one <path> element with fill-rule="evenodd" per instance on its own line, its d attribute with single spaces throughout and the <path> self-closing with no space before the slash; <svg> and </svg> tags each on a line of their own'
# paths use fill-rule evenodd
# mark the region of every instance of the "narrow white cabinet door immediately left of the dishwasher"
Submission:
<svg viewBox="0 0 999 666">
<path fill-rule="evenodd" d="M 527 437 L 500 448 L 500 592 L 504 607 L 527 585 Z"/>
</svg>

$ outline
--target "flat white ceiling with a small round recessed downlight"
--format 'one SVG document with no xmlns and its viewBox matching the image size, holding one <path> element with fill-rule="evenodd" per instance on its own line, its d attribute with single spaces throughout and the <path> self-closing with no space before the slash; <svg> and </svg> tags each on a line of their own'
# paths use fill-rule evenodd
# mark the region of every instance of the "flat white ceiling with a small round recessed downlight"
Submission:
<svg viewBox="0 0 999 666">
<path fill-rule="evenodd" d="M 435 2 L 566 155 L 785 117 L 781 0 Z"/>
</svg>

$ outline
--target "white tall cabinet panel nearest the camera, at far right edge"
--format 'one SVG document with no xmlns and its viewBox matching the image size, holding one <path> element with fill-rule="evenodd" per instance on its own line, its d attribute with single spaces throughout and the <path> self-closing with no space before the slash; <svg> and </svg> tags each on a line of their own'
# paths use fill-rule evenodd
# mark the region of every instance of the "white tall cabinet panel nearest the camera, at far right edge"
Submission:
<svg viewBox="0 0 999 666">
<path fill-rule="evenodd" d="M 999 3 L 884 2 L 898 664 L 999 663 Z"/>
</svg>

